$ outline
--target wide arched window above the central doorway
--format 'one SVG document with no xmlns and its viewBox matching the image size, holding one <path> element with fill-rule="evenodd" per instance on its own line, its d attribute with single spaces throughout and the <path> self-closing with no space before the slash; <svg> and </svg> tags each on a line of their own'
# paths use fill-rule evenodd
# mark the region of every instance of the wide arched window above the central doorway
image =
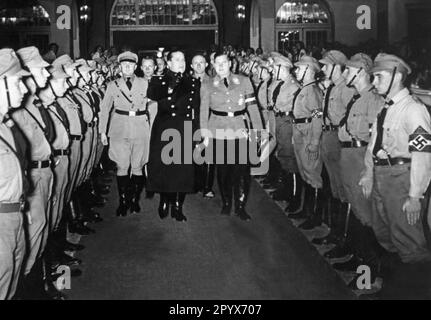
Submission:
<svg viewBox="0 0 431 320">
<path fill-rule="evenodd" d="M 111 28 L 214 29 L 217 12 L 211 0 L 117 0 L 111 14 Z"/>
</svg>

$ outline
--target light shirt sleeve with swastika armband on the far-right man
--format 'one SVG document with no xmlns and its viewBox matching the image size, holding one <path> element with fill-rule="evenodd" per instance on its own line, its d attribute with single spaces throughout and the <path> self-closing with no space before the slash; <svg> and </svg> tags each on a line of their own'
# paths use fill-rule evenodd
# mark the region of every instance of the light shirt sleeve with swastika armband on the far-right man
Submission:
<svg viewBox="0 0 431 320">
<path fill-rule="evenodd" d="M 431 180 L 431 125 L 425 106 L 408 108 L 405 126 L 412 154 L 409 196 L 422 198 Z"/>
</svg>

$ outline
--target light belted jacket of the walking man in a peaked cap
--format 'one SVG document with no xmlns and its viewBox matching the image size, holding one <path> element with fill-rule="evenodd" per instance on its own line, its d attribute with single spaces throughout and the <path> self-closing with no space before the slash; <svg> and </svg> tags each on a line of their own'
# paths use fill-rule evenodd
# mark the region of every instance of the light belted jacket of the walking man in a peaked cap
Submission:
<svg viewBox="0 0 431 320">
<path fill-rule="evenodd" d="M 112 139 L 148 139 L 156 113 L 154 105 L 148 106 L 149 117 L 121 115 L 115 112 L 147 110 L 147 88 L 147 80 L 136 76 L 132 81 L 131 90 L 124 78 L 111 81 L 100 104 L 99 132 L 107 133 Z"/>
</svg>

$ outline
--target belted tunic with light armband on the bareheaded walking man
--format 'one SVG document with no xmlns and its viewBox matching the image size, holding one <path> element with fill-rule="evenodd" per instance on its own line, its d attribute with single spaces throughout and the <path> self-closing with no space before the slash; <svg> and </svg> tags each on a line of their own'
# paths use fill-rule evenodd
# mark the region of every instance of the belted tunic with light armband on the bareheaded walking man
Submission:
<svg viewBox="0 0 431 320">
<path fill-rule="evenodd" d="M 201 129 L 209 130 L 216 139 L 244 138 L 246 129 L 263 129 L 263 122 L 250 79 L 241 75 L 230 74 L 229 88 L 217 75 L 213 81 L 204 84 L 201 89 Z M 211 110 L 237 112 L 246 110 L 244 116 L 218 116 Z M 229 130 L 217 133 L 216 130 Z M 242 133 L 239 133 L 242 132 Z M 205 132 L 202 131 L 205 135 Z"/>
</svg>

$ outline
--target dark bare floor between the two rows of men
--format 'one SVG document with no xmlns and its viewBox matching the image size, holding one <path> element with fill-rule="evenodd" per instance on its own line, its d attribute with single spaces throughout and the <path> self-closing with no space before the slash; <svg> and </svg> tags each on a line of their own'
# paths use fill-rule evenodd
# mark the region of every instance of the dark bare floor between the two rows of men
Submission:
<svg viewBox="0 0 431 320">
<path fill-rule="evenodd" d="M 256 182 L 253 219 L 219 215 L 218 197 L 186 199 L 187 222 L 143 211 L 115 216 L 116 183 L 100 209 L 105 221 L 82 237 L 82 276 L 65 293 L 78 299 L 355 299 L 343 279 Z"/>
</svg>

